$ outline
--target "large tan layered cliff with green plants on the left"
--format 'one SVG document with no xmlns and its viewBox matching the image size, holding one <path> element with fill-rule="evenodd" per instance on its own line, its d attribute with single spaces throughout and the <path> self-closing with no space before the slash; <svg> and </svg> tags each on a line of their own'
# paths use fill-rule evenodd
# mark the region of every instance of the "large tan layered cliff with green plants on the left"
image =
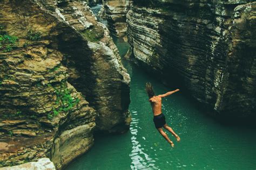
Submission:
<svg viewBox="0 0 256 170">
<path fill-rule="evenodd" d="M 48 157 L 59 169 L 95 127 L 129 129 L 130 76 L 86 3 L 0 6 L 0 167 Z"/>
</svg>

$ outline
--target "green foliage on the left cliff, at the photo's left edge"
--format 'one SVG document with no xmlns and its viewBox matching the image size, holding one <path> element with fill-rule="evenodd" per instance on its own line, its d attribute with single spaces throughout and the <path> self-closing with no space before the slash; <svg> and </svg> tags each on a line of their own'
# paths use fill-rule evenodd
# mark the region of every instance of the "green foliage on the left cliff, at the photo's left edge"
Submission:
<svg viewBox="0 0 256 170">
<path fill-rule="evenodd" d="M 10 36 L 4 31 L 4 26 L 0 25 L 0 50 L 3 52 L 10 52 L 13 48 L 17 47 L 16 42 L 18 37 Z"/>
</svg>

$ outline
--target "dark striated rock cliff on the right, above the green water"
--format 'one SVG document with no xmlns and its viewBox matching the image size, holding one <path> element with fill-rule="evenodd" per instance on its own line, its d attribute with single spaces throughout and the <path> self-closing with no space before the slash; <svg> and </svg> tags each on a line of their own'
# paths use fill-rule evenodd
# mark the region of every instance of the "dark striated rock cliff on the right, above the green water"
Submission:
<svg viewBox="0 0 256 170">
<path fill-rule="evenodd" d="M 221 115 L 255 114 L 256 3 L 250 2 L 135 0 L 127 13 L 133 56 Z"/>
</svg>

